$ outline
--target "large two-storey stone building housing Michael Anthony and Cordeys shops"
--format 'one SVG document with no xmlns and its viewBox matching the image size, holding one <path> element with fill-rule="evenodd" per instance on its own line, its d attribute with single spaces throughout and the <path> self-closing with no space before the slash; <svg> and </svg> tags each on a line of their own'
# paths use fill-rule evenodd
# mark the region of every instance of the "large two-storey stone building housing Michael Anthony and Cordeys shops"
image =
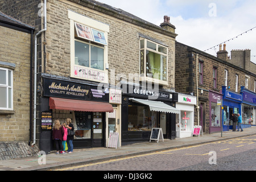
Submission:
<svg viewBox="0 0 256 182">
<path fill-rule="evenodd" d="M 43 11 L 44 3 L 46 3 L 47 9 L 46 19 L 40 14 Z M 36 47 L 38 51 L 36 57 L 34 57 L 37 62 L 36 72 L 38 73 L 36 79 L 38 86 L 36 92 L 36 140 L 39 141 L 40 148 L 48 151 L 50 147 L 52 150 L 52 146 L 46 147 L 49 140 L 51 140 L 51 131 L 43 127 L 42 123 L 46 121 L 43 117 L 50 114 L 52 123 L 48 123 L 48 128 L 52 127 L 54 119 L 59 118 L 61 122 L 64 122 L 67 117 L 72 118 L 73 121 L 77 121 L 78 118 L 77 114 L 79 112 L 74 108 L 58 109 L 57 105 L 50 106 L 56 104 L 56 98 L 72 100 L 72 107 L 75 107 L 75 103 L 78 101 L 85 101 L 81 103 L 93 101 L 102 107 L 109 107 L 106 104 L 110 103 L 112 108 L 110 110 L 113 111 L 114 109 L 115 116 L 111 116 L 112 112 L 110 110 L 91 111 L 92 114 L 89 115 L 88 110 L 80 111 L 82 112 L 80 114 L 84 114 L 83 117 L 87 119 L 83 119 L 83 130 L 79 130 L 77 126 L 77 130 L 81 132 L 77 133 L 76 137 L 80 140 L 77 140 L 74 145 L 78 148 L 106 146 L 109 133 L 113 130 L 120 134 L 120 140 L 145 139 L 142 132 L 137 132 L 138 135 L 131 134 L 128 121 L 123 121 L 128 117 L 123 113 L 128 113 L 132 102 L 129 100 L 130 97 L 146 97 L 148 93 L 154 93 L 163 96 L 163 98 L 160 98 L 161 101 L 175 107 L 175 99 L 173 99 L 175 95 L 171 90 L 174 90 L 175 87 L 175 38 L 177 34 L 175 34 L 175 27 L 170 23 L 170 20 L 165 18 L 163 24 L 156 26 L 121 9 L 93 0 L 35 0 L 26 3 L 26 5 L 23 1 L 1 0 L 0 5 L 5 13 L 16 15 L 15 18 L 22 19 L 35 26 L 35 34 L 43 30 L 47 24 L 47 30 L 38 36 L 38 46 Z M 13 6 L 13 9 L 10 9 L 11 6 Z M 19 13 L 16 14 L 16 12 Z M 82 37 L 79 26 L 90 29 L 92 33 L 93 31 L 102 33 L 105 42 L 102 43 L 100 40 L 96 40 L 94 34 L 91 34 L 93 37 L 90 38 Z M 85 65 L 86 61 L 79 59 L 79 56 L 77 56 L 79 53 L 76 52 L 78 50 L 76 46 L 81 46 L 81 44 L 84 45 L 82 48 L 90 47 L 90 56 L 94 56 L 93 53 L 95 52 L 92 51 L 95 51 L 95 49 L 97 51 L 103 50 L 103 64 L 102 60 L 98 60 L 94 64 L 93 58 L 90 57 L 90 63 L 87 67 Z M 148 67 L 146 51 L 151 52 L 151 55 L 148 56 L 151 60 L 161 59 L 161 63 L 159 61 L 159 65 L 154 65 L 153 61 Z M 97 59 L 100 58 L 97 57 Z M 150 71 L 147 71 L 148 68 L 150 68 Z M 153 72 L 153 69 L 155 72 Z M 156 76 L 158 73 L 158 77 L 152 77 L 152 75 Z M 129 76 L 132 79 L 129 80 Z M 158 91 L 161 90 L 161 93 L 160 91 L 159 93 L 151 92 L 147 86 L 143 88 L 143 86 L 145 87 L 143 81 L 158 84 Z M 97 88 L 99 84 L 105 86 L 104 93 Z M 74 87 L 71 88 L 72 85 L 75 86 L 76 90 Z M 131 85 L 131 95 L 127 93 L 126 96 L 122 96 L 118 90 L 126 89 L 128 91 L 129 85 Z M 137 90 L 139 91 L 133 93 L 133 86 L 138 86 Z M 57 90 L 60 88 L 63 90 L 69 89 L 69 91 L 75 90 L 76 93 L 75 91 L 71 93 Z M 82 93 L 85 90 L 87 92 Z M 115 90 L 115 96 L 121 99 L 112 101 L 114 95 L 112 97 L 112 91 L 109 92 L 108 90 Z M 92 96 L 89 97 L 89 94 L 92 94 Z M 139 94 L 143 96 L 139 96 Z M 84 98 L 81 98 L 81 96 Z M 66 103 L 66 105 L 68 104 Z M 123 108 L 127 110 L 123 111 L 125 110 Z M 156 113 L 156 115 L 158 114 Z M 95 121 L 98 121 L 97 124 L 93 122 L 94 116 L 98 117 L 95 119 Z M 111 117 L 112 119 L 109 119 Z M 169 138 L 171 138 L 171 133 L 175 133 L 175 129 L 171 131 L 171 127 L 174 127 L 171 126 L 171 121 L 174 119 L 172 117 L 171 114 L 162 116 L 162 118 L 167 118 L 164 122 L 170 122 L 166 123 L 168 131 L 166 130 L 165 133 Z M 112 122 L 113 119 L 115 119 L 115 128 L 110 131 L 110 127 L 112 127 L 110 121 Z M 92 120 L 92 122 L 88 123 L 89 120 Z M 101 123 L 106 128 L 102 128 Z M 121 135 L 121 133 L 125 133 L 125 135 Z M 96 135 L 100 136 L 100 139 Z M 129 138 L 129 136 L 133 138 Z M 135 136 L 139 137 L 136 138 Z M 94 137 L 97 139 L 94 140 Z M 148 133 L 146 139 L 148 139 Z"/>
</svg>

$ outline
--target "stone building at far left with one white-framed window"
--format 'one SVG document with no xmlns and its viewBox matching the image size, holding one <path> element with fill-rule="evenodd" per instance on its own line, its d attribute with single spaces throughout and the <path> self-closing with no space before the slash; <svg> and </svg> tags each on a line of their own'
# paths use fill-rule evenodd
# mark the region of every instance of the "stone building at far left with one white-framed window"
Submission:
<svg viewBox="0 0 256 182">
<path fill-rule="evenodd" d="M 0 142 L 28 142 L 34 27 L 1 12 L 0 23 Z"/>
</svg>

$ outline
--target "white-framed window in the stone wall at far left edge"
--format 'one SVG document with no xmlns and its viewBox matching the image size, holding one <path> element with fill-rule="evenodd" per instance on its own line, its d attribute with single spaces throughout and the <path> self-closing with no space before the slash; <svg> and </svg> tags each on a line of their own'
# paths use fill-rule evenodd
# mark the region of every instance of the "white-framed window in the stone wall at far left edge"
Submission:
<svg viewBox="0 0 256 182">
<path fill-rule="evenodd" d="M 13 71 L 0 68 L 0 109 L 13 110 Z"/>
</svg>

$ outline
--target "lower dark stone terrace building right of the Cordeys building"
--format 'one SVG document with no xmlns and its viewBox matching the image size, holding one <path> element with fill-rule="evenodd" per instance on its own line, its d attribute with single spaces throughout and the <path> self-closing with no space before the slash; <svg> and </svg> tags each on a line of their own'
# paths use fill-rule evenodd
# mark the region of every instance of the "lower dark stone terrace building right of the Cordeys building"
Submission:
<svg viewBox="0 0 256 182">
<path fill-rule="evenodd" d="M 195 107 L 195 125 L 203 126 L 205 133 L 220 131 L 220 123 L 227 119 L 224 114 L 230 113 L 229 110 L 225 111 L 225 107 L 224 110 L 221 108 L 214 110 L 214 108 L 219 108 L 217 107 L 217 100 L 225 101 L 224 90 L 227 93 L 229 91 L 232 93 L 230 102 L 234 102 L 233 105 L 227 105 L 226 108 L 232 108 L 231 111 L 236 114 L 242 114 L 243 111 L 241 86 L 246 85 L 246 78 L 249 78 L 247 90 L 255 92 L 255 73 L 230 63 L 225 47 L 224 49 L 220 48 L 220 51 L 217 52 L 218 56 L 215 57 L 199 49 L 176 42 L 175 91 L 198 96 L 199 117 L 197 117 L 197 107 Z M 196 62 L 198 69 L 196 69 Z M 234 106 L 236 104 L 237 106 Z M 218 119 L 214 113 L 220 114 Z M 228 127 L 231 124 L 227 124 L 228 121 L 225 121 L 227 130 L 229 130 Z"/>
</svg>

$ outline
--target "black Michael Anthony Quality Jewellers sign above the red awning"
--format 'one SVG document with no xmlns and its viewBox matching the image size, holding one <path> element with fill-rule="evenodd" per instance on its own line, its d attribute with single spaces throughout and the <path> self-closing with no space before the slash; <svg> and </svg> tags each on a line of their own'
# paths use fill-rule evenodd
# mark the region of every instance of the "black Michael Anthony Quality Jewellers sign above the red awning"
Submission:
<svg viewBox="0 0 256 182">
<path fill-rule="evenodd" d="M 53 78 L 43 79 L 44 96 L 71 98 L 79 100 L 106 101 L 108 102 L 109 91 L 98 90 L 97 86 L 79 84 L 76 82 L 56 80 Z"/>
</svg>

